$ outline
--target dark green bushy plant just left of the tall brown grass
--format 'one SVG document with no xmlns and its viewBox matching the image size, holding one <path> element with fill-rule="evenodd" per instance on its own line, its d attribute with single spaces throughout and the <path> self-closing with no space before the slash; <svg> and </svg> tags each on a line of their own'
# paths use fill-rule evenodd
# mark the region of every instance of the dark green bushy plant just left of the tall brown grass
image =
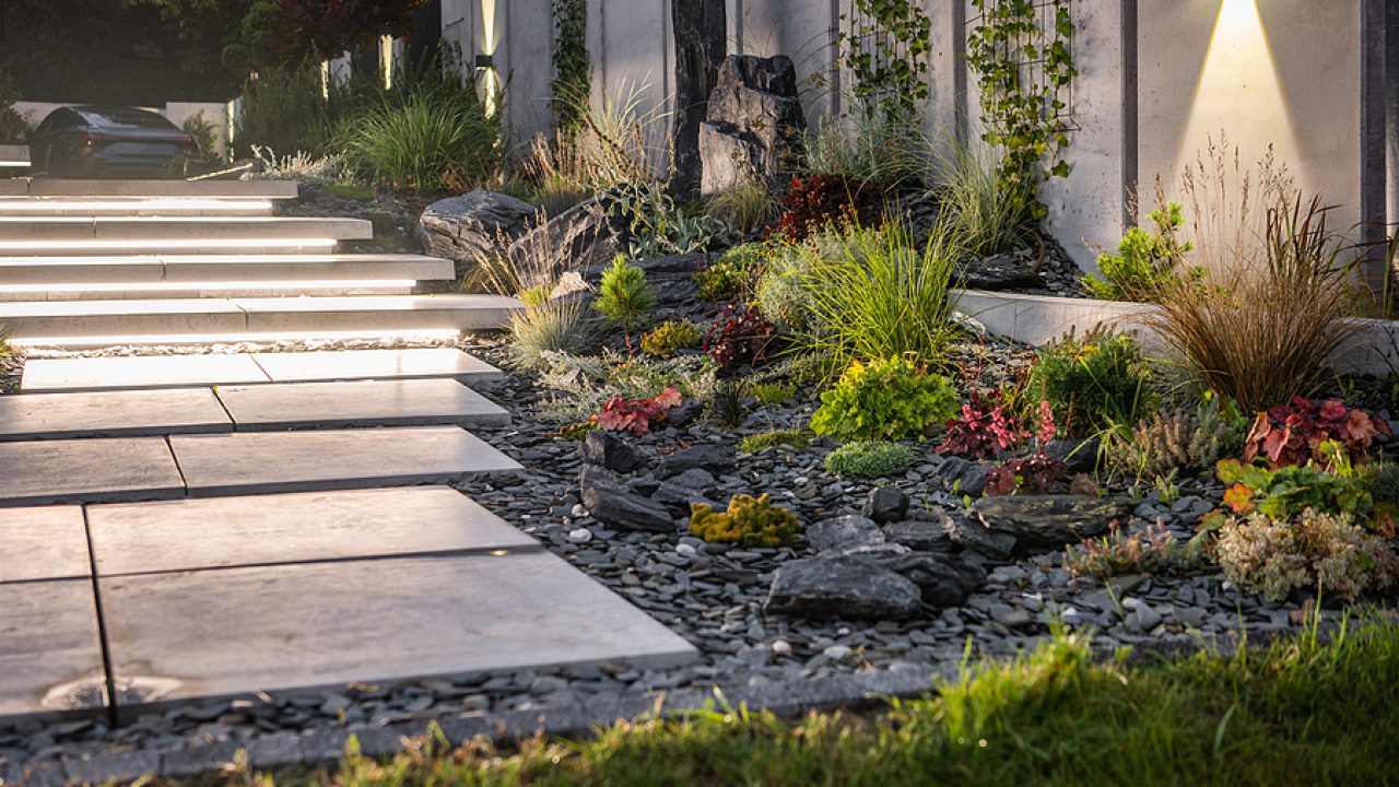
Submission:
<svg viewBox="0 0 1399 787">
<path fill-rule="evenodd" d="M 1070 437 L 1126 429 L 1156 406 L 1151 372 L 1130 336 L 1094 329 L 1069 335 L 1035 356 L 1025 398 L 1049 402 Z"/>
</svg>

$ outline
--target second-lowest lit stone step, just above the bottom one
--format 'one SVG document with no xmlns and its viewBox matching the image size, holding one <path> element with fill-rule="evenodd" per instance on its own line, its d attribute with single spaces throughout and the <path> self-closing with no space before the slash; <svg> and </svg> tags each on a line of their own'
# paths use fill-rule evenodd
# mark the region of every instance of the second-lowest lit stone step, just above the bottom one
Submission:
<svg viewBox="0 0 1399 787">
<path fill-rule="evenodd" d="M 21 291 L 20 287 L 115 286 L 122 290 L 137 284 L 208 281 L 446 281 L 455 274 L 452 260 L 411 253 L 10 256 L 0 258 L 0 293 Z"/>
</svg>

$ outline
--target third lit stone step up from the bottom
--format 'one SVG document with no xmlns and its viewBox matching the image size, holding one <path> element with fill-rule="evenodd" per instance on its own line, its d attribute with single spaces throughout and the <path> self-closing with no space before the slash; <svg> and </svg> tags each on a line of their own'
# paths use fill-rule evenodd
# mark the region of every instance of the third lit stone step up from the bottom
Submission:
<svg viewBox="0 0 1399 787">
<path fill-rule="evenodd" d="M 374 224 L 362 218 L 299 218 L 262 216 L 0 216 L 0 255 L 49 256 L 77 249 L 133 252 L 145 248 L 178 251 L 204 244 L 242 246 L 367 241 Z M 236 246 L 234 246 L 236 248 Z"/>
</svg>

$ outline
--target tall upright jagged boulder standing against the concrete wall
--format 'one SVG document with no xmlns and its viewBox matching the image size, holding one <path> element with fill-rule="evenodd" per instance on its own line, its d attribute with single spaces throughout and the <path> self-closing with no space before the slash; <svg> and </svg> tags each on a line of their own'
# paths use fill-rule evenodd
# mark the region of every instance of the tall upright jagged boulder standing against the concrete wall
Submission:
<svg viewBox="0 0 1399 787">
<path fill-rule="evenodd" d="M 700 126 L 701 193 L 754 179 L 781 186 L 795 169 L 804 130 L 790 57 L 727 56 Z"/>
</svg>

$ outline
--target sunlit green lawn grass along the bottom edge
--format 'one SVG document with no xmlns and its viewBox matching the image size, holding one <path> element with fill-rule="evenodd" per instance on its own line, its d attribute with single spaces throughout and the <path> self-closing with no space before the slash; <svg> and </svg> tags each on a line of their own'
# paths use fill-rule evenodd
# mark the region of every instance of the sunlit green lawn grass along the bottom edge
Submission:
<svg viewBox="0 0 1399 787">
<path fill-rule="evenodd" d="M 1095 660 L 1058 636 L 971 665 L 940 696 L 783 721 L 733 710 L 618 724 L 588 741 L 457 751 L 431 737 L 385 763 L 262 784 L 1393 784 L 1399 625 L 1233 655 Z"/>
</svg>

